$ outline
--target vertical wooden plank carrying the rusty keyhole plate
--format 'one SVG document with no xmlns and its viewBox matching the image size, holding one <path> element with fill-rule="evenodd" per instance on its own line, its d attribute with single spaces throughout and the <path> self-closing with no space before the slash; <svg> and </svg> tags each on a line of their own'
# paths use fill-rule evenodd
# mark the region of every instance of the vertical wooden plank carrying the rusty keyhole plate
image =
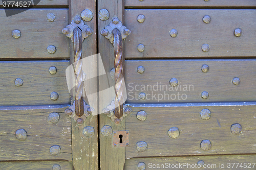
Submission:
<svg viewBox="0 0 256 170">
<path fill-rule="evenodd" d="M 110 43 L 109 39 L 106 39 L 100 34 L 100 31 L 108 26 L 115 16 L 117 16 L 123 23 L 124 2 L 123 0 L 101 0 L 98 1 L 98 12 L 100 12 L 101 9 L 109 11 L 109 19 L 98 19 L 99 53 L 105 67 L 105 72 L 108 74 L 111 69 L 114 68 L 114 46 Z M 115 81 L 112 79 L 109 79 L 108 82 L 104 82 L 103 78 L 99 78 L 99 82 L 99 89 L 104 89 L 106 86 L 111 87 L 115 84 Z M 106 85 L 106 83 L 108 84 Z M 109 101 L 113 100 L 113 96 L 104 96 L 104 99 L 99 100 L 99 108 L 105 108 L 110 105 Z M 105 125 L 109 125 L 112 127 L 113 131 L 125 130 L 125 118 L 119 125 L 115 125 L 115 123 L 113 123 L 112 120 L 104 114 L 100 114 L 99 118 L 100 129 Z M 100 133 L 100 168 L 102 170 L 119 170 L 123 169 L 124 162 L 125 148 L 114 148 L 112 144 L 112 135 L 105 137 Z"/>
</svg>

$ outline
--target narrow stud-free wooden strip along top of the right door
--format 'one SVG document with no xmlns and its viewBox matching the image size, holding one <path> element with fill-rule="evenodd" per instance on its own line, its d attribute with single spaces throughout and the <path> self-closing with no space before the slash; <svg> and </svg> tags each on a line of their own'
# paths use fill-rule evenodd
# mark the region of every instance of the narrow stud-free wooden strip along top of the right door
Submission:
<svg viewBox="0 0 256 170">
<path fill-rule="evenodd" d="M 256 6 L 253 0 L 232 0 L 232 1 L 201 1 L 201 0 L 144 0 L 144 1 L 125 1 L 126 8 L 253 8 Z"/>
</svg>

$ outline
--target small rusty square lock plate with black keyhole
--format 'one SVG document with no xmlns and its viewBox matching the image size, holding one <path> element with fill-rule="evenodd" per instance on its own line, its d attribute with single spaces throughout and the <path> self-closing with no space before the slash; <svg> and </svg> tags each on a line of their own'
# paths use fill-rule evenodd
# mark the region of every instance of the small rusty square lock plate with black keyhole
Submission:
<svg viewBox="0 0 256 170">
<path fill-rule="evenodd" d="M 129 131 L 113 131 L 113 147 L 129 147 Z"/>
</svg>

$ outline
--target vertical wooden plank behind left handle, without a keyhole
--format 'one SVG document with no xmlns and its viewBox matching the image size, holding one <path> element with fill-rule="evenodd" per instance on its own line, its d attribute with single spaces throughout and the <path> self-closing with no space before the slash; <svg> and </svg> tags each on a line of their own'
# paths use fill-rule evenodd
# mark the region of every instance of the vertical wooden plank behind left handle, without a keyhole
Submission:
<svg viewBox="0 0 256 170">
<path fill-rule="evenodd" d="M 91 21 L 84 21 L 84 23 L 93 30 L 93 34 L 87 37 L 82 42 L 82 58 L 89 57 L 97 54 L 96 42 L 96 3 L 94 0 L 76 0 L 69 1 L 70 18 L 69 21 L 74 19 L 76 15 L 81 16 L 84 9 L 89 9 L 93 13 Z M 70 41 L 70 61 L 73 62 L 74 51 L 73 43 Z M 97 61 L 90 63 L 93 68 L 97 65 Z M 87 74 L 87 73 L 86 73 Z M 94 82 L 95 83 L 95 82 Z M 95 84 L 92 84 L 95 86 Z M 94 136 L 88 138 L 83 136 L 82 131 L 84 127 L 91 126 L 94 128 Z M 82 126 L 78 126 L 72 119 L 72 154 L 73 154 L 73 167 L 76 170 L 96 170 L 98 169 L 98 118 L 97 116 L 89 116 Z"/>
</svg>

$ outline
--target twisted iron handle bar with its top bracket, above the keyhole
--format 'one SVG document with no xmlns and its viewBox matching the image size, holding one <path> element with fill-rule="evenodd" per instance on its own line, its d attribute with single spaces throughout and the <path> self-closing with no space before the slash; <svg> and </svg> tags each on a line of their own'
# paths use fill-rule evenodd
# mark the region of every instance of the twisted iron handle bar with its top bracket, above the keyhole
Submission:
<svg viewBox="0 0 256 170">
<path fill-rule="evenodd" d="M 101 30 L 101 35 L 105 36 L 105 38 L 109 39 L 110 42 L 114 45 L 114 66 L 115 66 L 115 116 L 117 118 L 121 118 L 123 116 L 123 63 L 124 58 L 122 55 L 123 46 L 122 39 L 126 38 L 127 35 L 131 34 L 129 29 L 126 29 L 125 26 L 122 25 L 122 22 L 119 21 L 117 17 L 114 17 L 110 22 L 109 26 L 106 26 L 105 29 Z"/>
</svg>

